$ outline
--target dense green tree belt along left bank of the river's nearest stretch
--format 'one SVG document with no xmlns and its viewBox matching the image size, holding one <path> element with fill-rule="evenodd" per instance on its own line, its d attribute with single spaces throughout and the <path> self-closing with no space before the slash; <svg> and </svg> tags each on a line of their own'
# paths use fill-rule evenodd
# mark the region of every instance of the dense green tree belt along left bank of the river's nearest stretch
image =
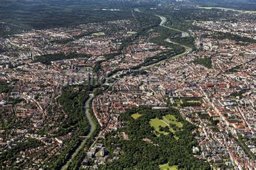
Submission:
<svg viewBox="0 0 256 170">
<path fill-rule="evenodd" d="M 89 131 L 89 122 L 84 113 L 84 102 L 89 98 L 92 90 L 90 85 L 66 86 L 58 101 L 63 106 L 63 110 L 68 113 L 68 119 L 63 121 L 56 135 L 64 135 L 72 132 L 72 138 L 65 142 L 66 147 L 58 154 L 54 155 L 47 163 L 50 169 L 58 169 L 64 165 L 80 144 L 79 136 L 86 135 Z"/>
</svg>

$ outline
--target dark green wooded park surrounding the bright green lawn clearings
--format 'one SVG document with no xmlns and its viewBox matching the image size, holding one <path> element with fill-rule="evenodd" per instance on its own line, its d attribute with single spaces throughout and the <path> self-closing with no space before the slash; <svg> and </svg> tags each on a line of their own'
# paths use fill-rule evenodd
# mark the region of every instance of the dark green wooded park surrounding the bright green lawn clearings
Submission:
<svg viewBox="0 0 256 170">
<path fill-rule="evenodd" d="M 137 119 L 131 117 L 132 114 L 142 114 Z M 162 118 L 166 114 L 172 114 L 178 121 L 183 123 L 182 130 L 159 137 L 152 133 L 153 128 L 149 121 L 154 118 Z M 118 146 L 122 150 L 119 159 L 114 162 L 107 162 L 102 168 L 137 168 L 137 169 L 159 169 L 159 165 L 169 163 L 170 166 L 178 165 L 179 169 L 211 169 L 207 162 L 193 157 L 192 147 L 197 146 L 197 141 L 193 138 L 196 127 L 184 120 L 176 108 L 170 106 L 169 111 L 156 111 L 149 107 L 132 108 L 120 115 L 125 127 L 118 132 L 112 132 L 104 140 L 105 146 L 109 149 L 110 157 L 113 157 L 113 149 Z M 123 140 L 120 132 L 125 132 L 129 140 Z M 150 139 L 152 143 L 143 141 L 143 138 Z M 154 145 L 155 144 L 155 145 Z"/>
</svg>

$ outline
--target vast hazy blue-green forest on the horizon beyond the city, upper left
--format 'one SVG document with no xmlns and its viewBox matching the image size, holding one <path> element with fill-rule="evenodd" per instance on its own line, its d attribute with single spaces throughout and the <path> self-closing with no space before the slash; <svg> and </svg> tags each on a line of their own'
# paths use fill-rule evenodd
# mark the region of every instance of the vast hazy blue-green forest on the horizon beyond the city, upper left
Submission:
<svg viewBox="0 0 256 170">
<path fill-rule="evenodd" d="M 149 2 L 144 5 L 154 4 L 154 2 Z M 114 1 L 1 1 L 0 18 L 4 23 L 0 23 L 0 37 L 8 37 L 22 30 L 134 19 L 131 9 L 135 5 L 141 4 Z"/>
</svg>

